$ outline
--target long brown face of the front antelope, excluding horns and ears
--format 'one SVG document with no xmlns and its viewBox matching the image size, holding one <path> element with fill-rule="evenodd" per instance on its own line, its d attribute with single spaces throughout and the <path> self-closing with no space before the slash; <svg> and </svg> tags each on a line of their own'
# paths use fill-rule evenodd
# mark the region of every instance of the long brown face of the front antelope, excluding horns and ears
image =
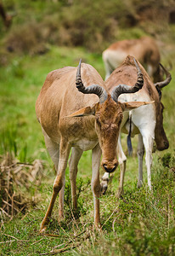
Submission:
<svg viewBox="0 0 175 256">
<path fill-rule="evenodd" d="M 110 96 L 104 103 L 96 106 L 95 129 L 102 150 L 101 165 L 105 172 L 114 172 L 118 166 L 116 146 L 122 116 L 120 103 L 114 102 Z"/>
</svg>

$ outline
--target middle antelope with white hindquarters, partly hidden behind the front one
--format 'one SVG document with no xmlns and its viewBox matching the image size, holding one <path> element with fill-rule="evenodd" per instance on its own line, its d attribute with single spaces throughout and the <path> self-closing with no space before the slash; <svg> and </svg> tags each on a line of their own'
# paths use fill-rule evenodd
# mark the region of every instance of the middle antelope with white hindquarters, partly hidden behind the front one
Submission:
<svg viewBox="0 0 175 256">
<path fill-rule="evenodd" d="M 143 76 L 144 86 L 142 90 L 134 94 L 122 94 L 119 96 L 120 102 L 151 102 L 154 104 L 143 106 L 133 109 L 130 112 L 123 114 L 121 122 L 121 132 L 129 133 L 131 137 L 138 134 L 138 187 L 143 183 L 143 157 L 145 149 L 145 161 L 148 175 L 148 185 L 151 189 L 151 173 L 150 168 L 152 164 L 152 148 L 155 139 L 156 147 L 158 150 L 164 150 L 169 147 L 166 133 L 163 129 L 163 104 L 161 103 L 161 89 L 170 83 L 171 75 L 167 70 L 162 67 L 167 75 L 167 79 L 160 83 L 153 84 L 149 75 L 145 72 L 144 67 L 138 63 Z M 127 56 L 126 60 L 117 67 L 116 70 L 110 75 L 110 78 L 105 81 L 105 85 L 109 91 L 113 91 L 116 84 L 132 85 L 136 79 L 135 67 L 132 56 Z M 119 141 L 117 144 L 117 154 L 119 165 L 121 167 L 121 177 L 118 196 L 123 193 L 124 174 L 126 170 L 127 157 L 121 148 L 121 132 L 119 134 Z M 102 191 L 105 193 L 107 183 L 109 181 L 109 173 L 104 173 L 102 177 Z"/>
</svg>

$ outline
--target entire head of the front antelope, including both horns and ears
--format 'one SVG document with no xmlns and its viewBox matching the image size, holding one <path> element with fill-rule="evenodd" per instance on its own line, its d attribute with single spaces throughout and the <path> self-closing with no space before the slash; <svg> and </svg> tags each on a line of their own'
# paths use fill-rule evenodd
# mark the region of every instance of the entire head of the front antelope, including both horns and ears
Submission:
<svg viewBox="0 0 175 256">
<path fill-rule="evenodd" d="M 143 74 L 138 63 L 135 59 L 133 59 L 133 62 L 138 73 L 137 82 L 133 87 L 127 86 L 127 84 L 119 84 L 112 90 L 111 94 L 99 84 L 92 84 L 85 87 L 81 78 L 81 61 L 77 67 L 76 88 L 83 94 L 95 94 L 99 96 L 99 102 L 93 106 L 82 108 L 76 111 L 76 113 L 72 113 L 70 117 L 95 116 L 95 130 L 102 149 L 102 166 L 105 172 L 114 172 L 118 166 L 116 146 L 122 120 L 122 111 L 127 108 L 133 109 L 147 104 L 146 102 L 118 102 L 118 97 L 122 93 L 134 93 L 140 90 L 144 84 Z"/>
</svg>

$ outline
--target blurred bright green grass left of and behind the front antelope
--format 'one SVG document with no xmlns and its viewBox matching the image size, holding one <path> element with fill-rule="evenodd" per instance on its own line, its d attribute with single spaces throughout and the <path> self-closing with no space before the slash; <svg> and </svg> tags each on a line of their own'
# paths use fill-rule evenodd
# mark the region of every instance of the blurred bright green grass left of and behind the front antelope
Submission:
<svg viewBox="0 0 175 256">
<path fill-rule="evenodd" d="M 42 84 L 50 71 L 64 66 L 75 67 L 80 58 L 93 66 L 96 63 L 97 70 L 104 76 L 100 55 L 71 48 L 53 47 L 47 55 L 16 57 L 8 67 L 1 68 L 0 133 L 4 137 L 4 134 L 14 132 L 18 148 L 26 143 L 31 158 L 36 158 L 35 153 L 43 142 L 35 114 L 35 102 Z M 1 142 L 0 154 L 3 154 L 3 148 Z"/>
</svg>

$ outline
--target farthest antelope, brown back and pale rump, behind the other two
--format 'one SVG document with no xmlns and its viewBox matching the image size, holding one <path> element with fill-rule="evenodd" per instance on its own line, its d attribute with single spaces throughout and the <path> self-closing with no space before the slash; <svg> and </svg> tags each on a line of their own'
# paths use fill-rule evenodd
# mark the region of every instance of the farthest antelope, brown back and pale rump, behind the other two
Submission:
<svg viewBox="0 0 175 256">
<path fill-rule="evenodd" d="M 105 49 L 102 57 L 105 67 L 105 80 L 119 67 L 127 55 L 133 55 L 146 68 L 154 82 L 161 81 L 159 67 L 160 53 L 155 40 L 150 37 L 118 41 Z"/>
</svg>

